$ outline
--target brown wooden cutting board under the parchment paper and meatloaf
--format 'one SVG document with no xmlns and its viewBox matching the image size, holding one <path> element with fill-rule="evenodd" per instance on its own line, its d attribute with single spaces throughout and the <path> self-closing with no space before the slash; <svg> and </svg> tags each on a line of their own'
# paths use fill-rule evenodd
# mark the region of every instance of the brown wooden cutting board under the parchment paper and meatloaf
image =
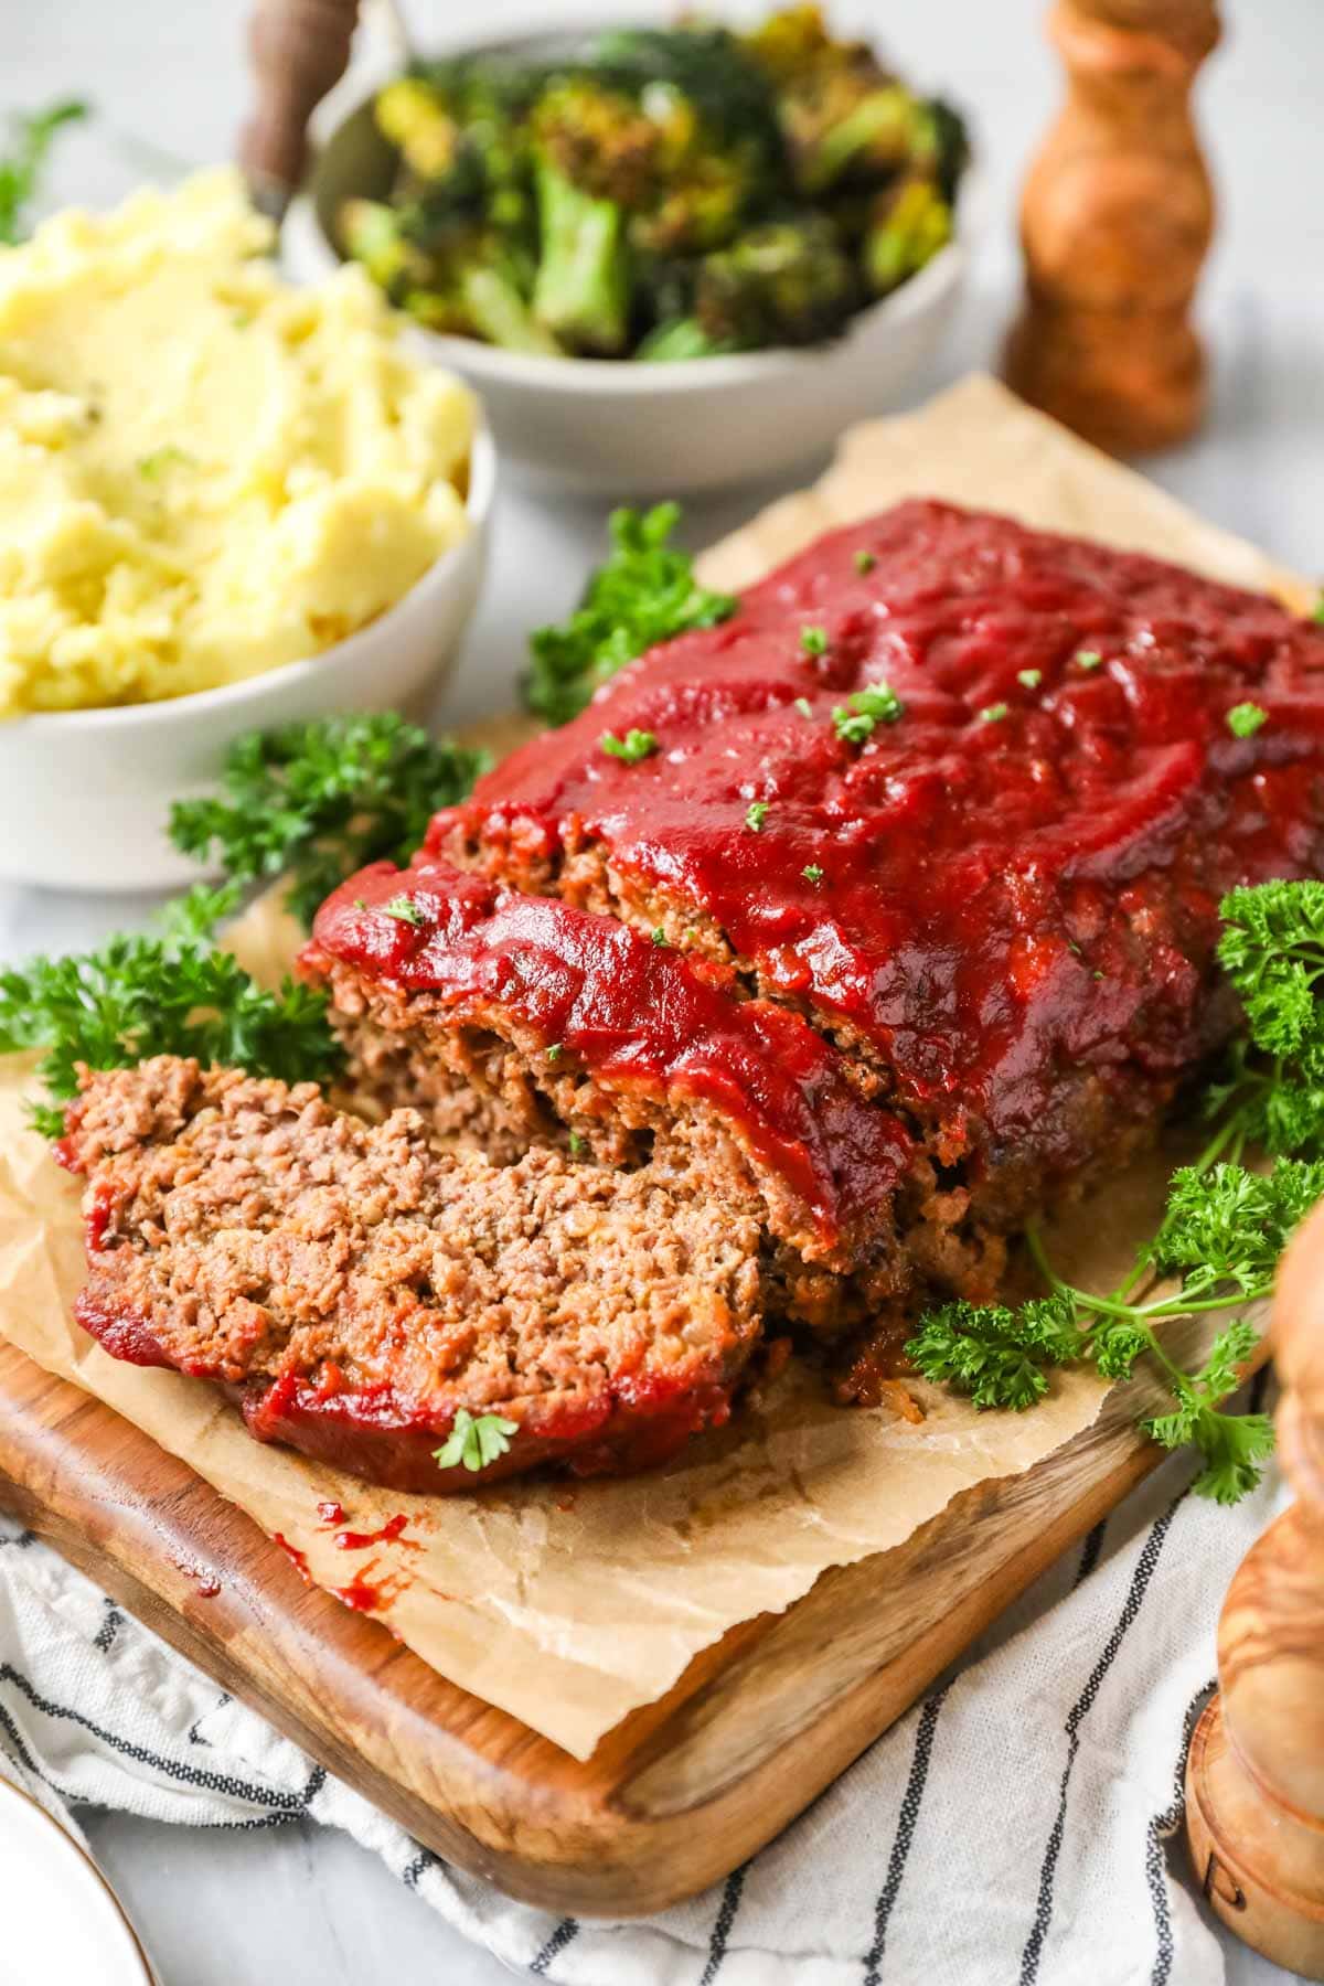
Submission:
<svg viewBox="0 0 1324 1986">
<path fill-rule="evenodd" d="M 1153 1468 L 1135 1414 L 1157 1400 L 1110 1394 L 1026 1474 L 732 1629 L 588 1764 L 306 1587 L 187 1464 L 4 1343 L 0 1505 L 447 1861 L 617 1916 L 719 1881 L 844 1772 Z"/>
</svg>

